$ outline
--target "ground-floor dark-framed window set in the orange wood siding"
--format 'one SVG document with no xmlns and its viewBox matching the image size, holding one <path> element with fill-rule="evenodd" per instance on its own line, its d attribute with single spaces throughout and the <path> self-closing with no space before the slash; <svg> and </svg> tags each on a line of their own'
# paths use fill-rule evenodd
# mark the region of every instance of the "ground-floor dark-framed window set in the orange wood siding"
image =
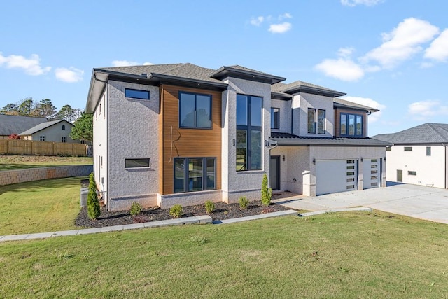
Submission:
<svg viewBox="0 0 448 299">
<path fill-rule="evenodd" d="M 216 189 L 216 158 L 174 158 L 174 193 Z"/>
</svg>

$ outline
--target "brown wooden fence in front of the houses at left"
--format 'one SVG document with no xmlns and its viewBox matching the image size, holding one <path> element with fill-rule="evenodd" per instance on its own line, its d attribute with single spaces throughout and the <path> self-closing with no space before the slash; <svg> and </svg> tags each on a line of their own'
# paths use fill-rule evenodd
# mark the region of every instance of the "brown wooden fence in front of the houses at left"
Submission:
<svg viewBox="0 0 448 299">
<path fill-rule="evenodd" d="M 0 155 L 87 155 L 86 144 L 0 139 Z"/>
</svg>

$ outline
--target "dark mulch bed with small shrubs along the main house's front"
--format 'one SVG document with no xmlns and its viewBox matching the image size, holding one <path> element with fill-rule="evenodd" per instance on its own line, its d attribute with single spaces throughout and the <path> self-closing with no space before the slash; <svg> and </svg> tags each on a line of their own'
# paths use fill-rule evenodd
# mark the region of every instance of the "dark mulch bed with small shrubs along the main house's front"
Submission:
<svg viewBox="0 0 448 299">
<path fill-rule="evenodd" d="M 265 213 L 271 213 L 273 211 L 284 211 L 288 208 L 279 204 L 271 204 L 269 207 L 262 207 L 261 202 L 251 202 L 247 209 L 241 209 L 239 204 L 226 204 L 225 202 L 216 202 L 215 210 L 209 216 L 214 221 L 223 219 L 239 218 L 252 215 L 260 215 Z M 207 215 L 204 204 L 197 206 L 183 207 L 182 217 Z M 87 216 L 87 208 L 83 207 L 76 217 L 75 224 L 78 226 L 100 228 L 103 226 L 112 225 L 124 225 L 131 223 L 141 223 L 150 221 L 160 221 L 172 219 L 169 215 L 169 209 L 160 209 L 159 207 L 153 207 L 150 209 L 144 209 L 138 216 L 131 216 L 129 211 L 106 211 L 106 207 L 101 208 L 101 215 L 96 221 L 92 221 Z"/>
</svg>

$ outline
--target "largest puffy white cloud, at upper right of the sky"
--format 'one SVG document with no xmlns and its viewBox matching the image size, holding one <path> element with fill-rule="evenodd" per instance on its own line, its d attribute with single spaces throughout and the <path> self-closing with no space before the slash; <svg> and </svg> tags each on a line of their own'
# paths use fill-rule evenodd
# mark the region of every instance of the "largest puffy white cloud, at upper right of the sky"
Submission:
<svg viewBox="0 0 448 299">
<path fill-rule="evenodd" d="M 392 32 L 381 34 L 381 46 L 370 50 L 361 60 L 365 63 L 374 60 L 383 68 L 393 68 L 419 53 L 422 50 L 421 44 L 432 40 L 438 32 L 437 27 L 424 20 L 405 19 Z"/>
</svg>

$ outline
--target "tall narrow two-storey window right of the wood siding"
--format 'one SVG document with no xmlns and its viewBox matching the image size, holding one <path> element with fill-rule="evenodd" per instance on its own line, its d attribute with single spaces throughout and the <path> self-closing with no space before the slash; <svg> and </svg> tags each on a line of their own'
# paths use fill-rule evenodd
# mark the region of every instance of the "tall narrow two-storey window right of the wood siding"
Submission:
<svg viewBox="0 0 448 299">
<path fill-rule="evenodd" d="M 237 95 L 237 172 L 262 169 L 262 98 Z"/>
</svg>

